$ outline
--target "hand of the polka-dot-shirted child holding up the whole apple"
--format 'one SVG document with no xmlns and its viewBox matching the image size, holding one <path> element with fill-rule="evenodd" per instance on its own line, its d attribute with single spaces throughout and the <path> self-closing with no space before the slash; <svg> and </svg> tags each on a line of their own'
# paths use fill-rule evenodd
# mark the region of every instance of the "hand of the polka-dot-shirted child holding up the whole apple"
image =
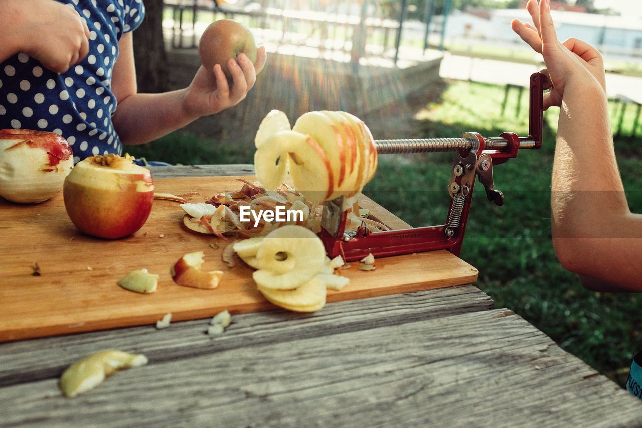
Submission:
<svg viewBox="0 0 642 428">
<path fill-rule="evenodd" d="M 238 55 L 238 62 L 230 58 L 227 67 L 232 73 L 231 86 L 220 65 L 214 66 L 214 76 L 211 70 L 200 66 L 194 80 L 187 87 L 184 100 L 187 114 L 193 117 L 207 116 L 237 105 L 254 86 L 256 75 L 261 73 L 266 58 L 263 46 L 257 53 L 256 64 L 252 64 L 250 58 L 243 53 Z"/>
</svg>

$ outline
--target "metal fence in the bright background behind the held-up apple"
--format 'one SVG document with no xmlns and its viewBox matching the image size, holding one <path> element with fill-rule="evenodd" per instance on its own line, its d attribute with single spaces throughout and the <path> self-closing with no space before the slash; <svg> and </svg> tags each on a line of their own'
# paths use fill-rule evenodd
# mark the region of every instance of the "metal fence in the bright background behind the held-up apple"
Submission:
<svg viewBox="0 0 642 428">
<path fill-rule="evenodd" d="M 434 6 L 434 0 L 427 0 L 423 11 L 424 51 L 428 48 L 431 24 L 433 31 L 441 31 L 432 22 Z M 408 16 L 408 0 L 259 0 L 234 4 L 218 4 L 217 0 L 166 0 L 165 8 L 166 17 L 171 16 L 173 22 L 170 35 L 173 48 L 195 48 L 207 22 L 229 17 L 248 24 L 262 44 L 317 49 L 321 55 L 344 55 L 356 63 L 361 57 L 376 55 L 390 58 L 396 64 Z M 207 13 L 210 19 L 204 19 Z"/>
</svg>

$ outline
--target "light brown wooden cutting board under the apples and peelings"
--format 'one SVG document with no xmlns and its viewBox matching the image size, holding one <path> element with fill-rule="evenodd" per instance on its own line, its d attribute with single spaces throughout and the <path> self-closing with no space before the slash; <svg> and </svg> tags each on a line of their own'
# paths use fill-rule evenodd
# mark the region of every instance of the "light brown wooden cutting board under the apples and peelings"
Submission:
<svg viewBox="0 0 642 428">
<path fill-rule="evenodd" d="M 203 202 L 225 190 L 238 190 L 236 177 L 156 179 L 156 192 Z M 244 177 L 254 180 L 254 177 Z M 378 204 L 361 202 L 392 228 L 408 227 Z M 0 342 L 30 337 L 153 324 L 167 312 L 172 321 L 274 308 L 256 289 L 252 269 L 221 260 L 225 241 L 199 235 L 182 225 L 177 202 L 154 201 L 152 214 L 134 236 L 102 240 L 80 233 L 65 212 L 62 195 L 42 204 L 22 206 L 0 201 Z M 220 249 L 209 246 L 217 242 Z M 231 242 L 231 240 L 230 240 Z M 175 285 L 169 269 L 191 251 L 204 251 L 207 270 L 225 271 L 218 288 L 200 290 Z M 40 276 L 33 276 L 38 263 Z M 381 258 L 372 272 L 341 271 L 350 278 L 343 290 L 328 291 L 328 301 L 462 285 L 478 271 L 447 251 Z M 153 294 L 138 294 L 116 282 L 135 269 L 160 274 Z"/>
</svg>

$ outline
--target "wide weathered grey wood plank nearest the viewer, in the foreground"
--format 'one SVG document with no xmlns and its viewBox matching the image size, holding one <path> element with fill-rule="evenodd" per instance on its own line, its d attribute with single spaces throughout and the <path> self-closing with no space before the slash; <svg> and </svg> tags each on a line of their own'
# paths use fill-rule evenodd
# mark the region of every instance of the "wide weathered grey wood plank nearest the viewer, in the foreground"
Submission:
<svg viewBox="0 0 642 428">
<path fill-rule="evenodd" d="M 639 400 L 501 309 L 152 359 L 73 400 L 55 379 L 8 386 L 0 409 L 7 425 L 74 426 L 627 426 L 642 417 Z"/>
</svg>

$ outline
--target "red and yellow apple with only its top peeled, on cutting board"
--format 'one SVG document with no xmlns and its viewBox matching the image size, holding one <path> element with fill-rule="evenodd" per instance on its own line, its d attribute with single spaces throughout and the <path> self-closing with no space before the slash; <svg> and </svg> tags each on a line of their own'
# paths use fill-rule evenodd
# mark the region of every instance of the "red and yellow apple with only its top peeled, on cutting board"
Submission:
<svg viewBox="0 0 642 428">
<path fill-rule="evenodd" d="M 90 156 L 65 179 L 67 214 L 87 235 L 116 239 L 132 235 L 152 211 L 152 173 L 116 154 Z"/>
</svg>

